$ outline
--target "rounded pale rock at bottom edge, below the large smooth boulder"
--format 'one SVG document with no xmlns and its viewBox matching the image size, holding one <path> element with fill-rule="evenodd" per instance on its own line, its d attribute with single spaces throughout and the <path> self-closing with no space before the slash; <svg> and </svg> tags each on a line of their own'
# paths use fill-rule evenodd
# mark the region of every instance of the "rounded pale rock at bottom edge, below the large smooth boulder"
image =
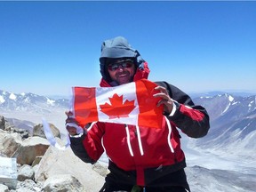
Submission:
<svg viewBox="0 0 256 192">
<path fill-rule="evenodd" d="M 84 187 L 79 180 L 70 174 L 56 174 L 48 178 L 44 183 L 44 192 L 83 192 Z"/>
</svg>

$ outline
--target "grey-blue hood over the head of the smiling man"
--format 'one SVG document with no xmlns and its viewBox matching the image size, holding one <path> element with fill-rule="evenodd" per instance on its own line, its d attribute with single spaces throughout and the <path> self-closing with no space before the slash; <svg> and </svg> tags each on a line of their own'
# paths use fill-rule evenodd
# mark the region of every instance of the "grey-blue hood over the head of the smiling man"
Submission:
<svg viewBox="0 0 256 192">
<path fill-rule="evenodd" d="M 116 36 L 115 38 L 105 40 L 101 44 L 100 74 L 108 83 L 111 83 L 111 79 L 108 75 L 107 65 L 111 60 L 119 58 L 132 59 L 137 69 L 143 70 L 145 67 L 145 60 L 141 58 L 140 52 L 132 49 L 132 46 L 123 36 Z"/>
</svg>

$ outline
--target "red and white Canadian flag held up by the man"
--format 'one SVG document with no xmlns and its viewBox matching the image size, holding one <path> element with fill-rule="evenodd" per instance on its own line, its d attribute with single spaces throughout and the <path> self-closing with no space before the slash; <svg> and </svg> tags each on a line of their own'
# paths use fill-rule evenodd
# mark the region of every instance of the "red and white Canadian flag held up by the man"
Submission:
<svg viewBox="0 0 256 192">
<path fill-rule="evenodd" d="M 156 107 L 156 86 L 141 79 L 116 87 L 73 87 L 71 111 L 82 127 L 99 121 L 161 128 L 164 108 Z"/>
</svg>

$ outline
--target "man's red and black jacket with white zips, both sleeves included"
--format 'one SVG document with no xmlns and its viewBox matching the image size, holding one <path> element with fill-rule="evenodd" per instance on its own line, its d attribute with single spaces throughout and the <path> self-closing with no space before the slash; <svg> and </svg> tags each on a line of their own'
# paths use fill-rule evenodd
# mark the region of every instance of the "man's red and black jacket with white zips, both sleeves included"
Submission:
<svg viewBox="0 0 256 192">
<path fill-rule="evenodd" d="M 145 70 L 137 69 L 134 81 L 148 77 L 148 65 L 146 62 L 144 65 Z M 185 156 L 180 148 L 179 129 L 188 137 L 203 137 L 210 127 L 209 116 L 205 108 L 196 106 L 177 87 L 165 82 L 155 83 L 164 86 L 176 104 L 173 116 L 163 115 L 160 129 L 92 123 L 81 138 L 70 138 L 71 148 L 76 156 L 92 164 L 105 151 L 109 158 L 110 175 L 117 182 L 139 186 L 169 184 L 188 188 L 186 176 L 179 173 L 186 167 Z M 110 85 L 102 79 L 100 86 Z M 166 177 L 170 180 L 166 180 Z"/>
</svg>

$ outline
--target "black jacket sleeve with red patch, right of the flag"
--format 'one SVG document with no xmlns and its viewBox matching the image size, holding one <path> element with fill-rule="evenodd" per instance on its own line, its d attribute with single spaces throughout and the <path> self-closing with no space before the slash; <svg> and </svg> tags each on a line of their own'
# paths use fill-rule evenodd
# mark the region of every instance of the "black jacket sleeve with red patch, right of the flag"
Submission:
<svg viewBox="0 0 256 192">
<path fill-rule="evenodd" d="M 156 82 L 156 84 L 167 89 L 169 96 L 176 105 L 173 116 L 167 116 L 167 118 L 188 137 L 204 137 L 210 129 L 210 119 L 206 109 L 195 105 L 188 94 L 172 84 L 166 82 Z"/>
</svg>

